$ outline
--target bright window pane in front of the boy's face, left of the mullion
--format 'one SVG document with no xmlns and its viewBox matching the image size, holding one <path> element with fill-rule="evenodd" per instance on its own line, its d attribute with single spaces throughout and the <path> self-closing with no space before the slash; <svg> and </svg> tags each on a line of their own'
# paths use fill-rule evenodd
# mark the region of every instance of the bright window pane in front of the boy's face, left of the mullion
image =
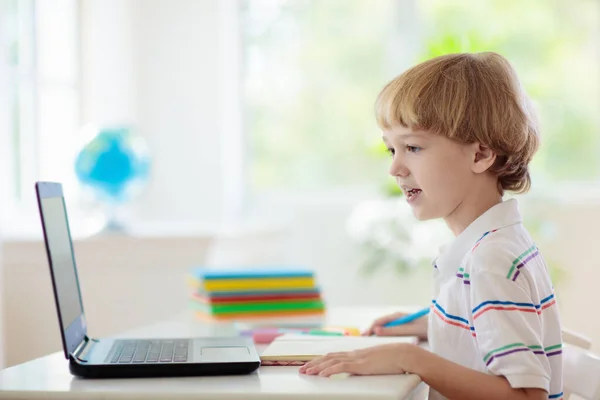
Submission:
<svg viewBox="0 0 600 400">
<path fill-rule="evenodd" d="M 402 3 L 243 3 L 250 192 L 372 185 L 385 173 L 368 149 L 381 141 L 375 96 L 410 58 Z"/>
</svg>

